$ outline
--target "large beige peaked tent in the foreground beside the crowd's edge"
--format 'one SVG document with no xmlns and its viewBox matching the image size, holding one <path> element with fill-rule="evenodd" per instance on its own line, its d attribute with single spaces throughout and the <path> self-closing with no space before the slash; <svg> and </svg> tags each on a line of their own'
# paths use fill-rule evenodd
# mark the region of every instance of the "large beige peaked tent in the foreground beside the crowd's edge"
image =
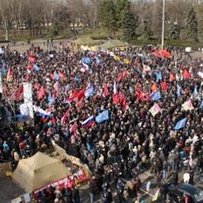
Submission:
<svg viewBox="0 0 203 203">
<path fill-rule="evenodd" d="M 21 159 L 12 177 L 26 192 L 32 192 L 68 175 L 71 174 L 61 161 L 38 152 Z"/>
</svg>

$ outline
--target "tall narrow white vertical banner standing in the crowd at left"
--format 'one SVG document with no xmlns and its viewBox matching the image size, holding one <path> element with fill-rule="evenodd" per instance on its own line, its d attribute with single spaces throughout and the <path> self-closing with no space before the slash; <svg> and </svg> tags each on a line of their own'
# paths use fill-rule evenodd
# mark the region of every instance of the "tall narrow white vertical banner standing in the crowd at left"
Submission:
<svg viewBox="0 0 203 203">
<path fill-rule="evenodd" d="M 32 84 L 29 82 L 23 83 L 24 103 L 27 104 L 30 118 L 34 118 L 33 101 L 32 101 Z"/>
</svg>

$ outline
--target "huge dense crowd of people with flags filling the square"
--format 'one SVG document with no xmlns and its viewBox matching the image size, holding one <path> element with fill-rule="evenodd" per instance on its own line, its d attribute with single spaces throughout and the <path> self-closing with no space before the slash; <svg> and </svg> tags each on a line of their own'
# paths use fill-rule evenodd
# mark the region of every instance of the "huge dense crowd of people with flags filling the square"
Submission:
<svg viewBox="0 0 203 203">
<path fill-rule="evenodd" d="M 98 194 L 105 203 L 139 197 L 138 175 L 145 170 L 158 183 L 170 172 L 177 183 L 184 168 L 201 173 L 203 83 L 198 73 L 203 60 L 178 49 L 168 49 L 167 56 L 155 52 L 151 46 L 82 51 L 67 43 L 2 55 L 0 162 L 12 161 L 15 168 L 19 159 L 46 151 L 55 140 L 92 171 L 91 203 Z M 43 110 L 34 111 L 32 125 L 20 110 L 23 82 L 32 83 L 33 105 Z M 124 179 L 132 180 L 131 190 Z M 39 202 L 51 201 L 46 194 L 39 194 Z M 74 195 L 65 198 L 68 189 L 52 194 L 55 202 L 80 202 Z"/>
</svg>

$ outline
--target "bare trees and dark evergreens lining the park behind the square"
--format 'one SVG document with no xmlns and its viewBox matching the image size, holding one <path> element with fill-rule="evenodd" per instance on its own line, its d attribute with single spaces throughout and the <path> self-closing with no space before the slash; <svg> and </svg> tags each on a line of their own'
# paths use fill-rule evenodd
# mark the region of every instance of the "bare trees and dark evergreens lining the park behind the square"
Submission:
<svg viewBox="0 0 203 203">
<path fill-rule="evenodd" d="M 122 32 L 126 41 L 160 38 L 162 0 L 0 0 L 0 28 L 9 33 L 28 30 L 40 37 L 64 29 L 103 28 L 109 37 Z M 203 1 L 166 0 L 165 36 L 203 41 Z"/>
</svg>

